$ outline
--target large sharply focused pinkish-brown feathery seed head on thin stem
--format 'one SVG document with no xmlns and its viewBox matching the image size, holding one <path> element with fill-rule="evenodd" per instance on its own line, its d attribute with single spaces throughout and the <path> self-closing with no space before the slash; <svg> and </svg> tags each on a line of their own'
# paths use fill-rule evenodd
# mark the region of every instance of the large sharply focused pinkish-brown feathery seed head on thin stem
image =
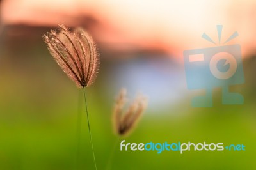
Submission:
<svg viewBox="0 0 256 170">
<path fill-rule="evenodd" d="M 61 69 L 78 88 L 91 86 L 99 70 L 99 54 L 92 36 L 82 28 L 69 31 L 60 25 L 60 31 L 44 35 L 48 49 Z"/>
</svg>

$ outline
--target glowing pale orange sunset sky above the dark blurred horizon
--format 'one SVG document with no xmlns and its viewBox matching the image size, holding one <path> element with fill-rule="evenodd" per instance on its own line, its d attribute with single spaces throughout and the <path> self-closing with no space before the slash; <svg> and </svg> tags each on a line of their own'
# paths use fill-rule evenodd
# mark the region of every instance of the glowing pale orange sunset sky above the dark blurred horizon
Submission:
<svg viewBox="0 0 256 170">
<path fill-rule="evenodd" d="M 76 26 L 84 16 L 99 23 L 91 30 L 93 36 L 116 50 L 161 49 L 180 57 L 183 50 L 212 47 L 201 36 L 205 32 L 217 41 L 217 24 L 223 25 L 223 41 L 234 31 L 239 33 L 230 44 L 241 44 L 244 56 L 256 48 L 256 2 L 251 0 L 5 0 L 1 4 L 4 24 Z"/>
</svg>

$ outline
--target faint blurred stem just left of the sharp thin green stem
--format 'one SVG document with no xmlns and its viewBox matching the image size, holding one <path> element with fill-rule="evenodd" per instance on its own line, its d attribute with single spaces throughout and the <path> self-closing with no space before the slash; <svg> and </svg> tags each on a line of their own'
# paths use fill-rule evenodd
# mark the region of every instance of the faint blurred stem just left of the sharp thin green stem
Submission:
<svg viewBox="0 0 256 170">
<path fill-rule="evenodd" d="M 79 156 L 80 156 L 80 143 L 81 143 L 81 125 L 82 125 L 82 112 L 81 112 L 81 95 L 78 95 L 77 104 L 77 127 L 76 127 L 76 137 L 77 137 L 77 155 L 76 155 L 76 169 L 79 169 Z"/>
</svg>

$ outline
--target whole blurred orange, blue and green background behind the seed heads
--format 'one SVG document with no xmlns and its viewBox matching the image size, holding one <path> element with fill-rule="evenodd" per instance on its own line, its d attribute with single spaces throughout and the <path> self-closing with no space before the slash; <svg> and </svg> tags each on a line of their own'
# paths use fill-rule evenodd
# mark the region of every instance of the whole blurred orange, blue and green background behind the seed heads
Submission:
<svg viewBox="0 0 256 170">
<path fill-rule="evenodd" d="M 246 151 L 120 151 L 111 169 L 256 169 L 256 2 L 83 1 L 0 2 L 0 169 L 93 169 L 82 91 L 49 54 L 42 35 L 58 24 L 81 26 L 93 36 L 101 59 L 97 81 L 86 89 L 98 169 L 106 169 L 113 145 L 111 114 L 120 88 L 138 91 L 148 109 L 127 143 L 244 144 Z M 183 51 L 239 43 L 245 83 L 230 87 L 243 105 L 193 108 L 198 91 L 186 86 Z M 199 91 L 200 93 L 200 91 Z M 129 101 L 131 101 L 129 100 Z M 82 112 L 77 163 L 77 112 Z"/>
</svg>

